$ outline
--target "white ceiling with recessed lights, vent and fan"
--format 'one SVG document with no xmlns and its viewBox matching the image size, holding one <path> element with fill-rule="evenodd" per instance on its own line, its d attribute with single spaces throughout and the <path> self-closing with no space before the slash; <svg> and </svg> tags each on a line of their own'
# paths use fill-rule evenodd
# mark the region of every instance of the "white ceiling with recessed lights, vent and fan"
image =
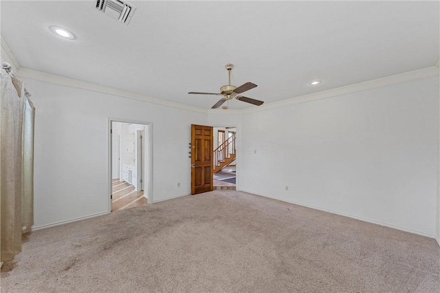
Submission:
<svg viewBox="0 0 440 293">
<path fill-rule="evenodd" d="M 270 103 L 439 61 L 439 1 L 129 3 L 126 26 L 92 0 L 2 0 L 1 36 L 21 67 L 206 109 L 219 96 L 188 91 L 218 93 L 226 63 L 232 84 L 258 84 L 243 95 Z"/>
</svg>

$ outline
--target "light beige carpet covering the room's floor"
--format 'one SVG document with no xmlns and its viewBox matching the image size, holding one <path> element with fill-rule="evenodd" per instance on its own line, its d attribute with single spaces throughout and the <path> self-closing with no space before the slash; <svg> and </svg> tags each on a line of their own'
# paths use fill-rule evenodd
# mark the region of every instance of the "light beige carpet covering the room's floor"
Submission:
<svg viewBox="0 0 440 293">
<path fill-rule="evenodd" d="M 439 272 L 434 239 L 212 191 L 35 231 L 1 292 L 439 292 Z"/>
</svg>

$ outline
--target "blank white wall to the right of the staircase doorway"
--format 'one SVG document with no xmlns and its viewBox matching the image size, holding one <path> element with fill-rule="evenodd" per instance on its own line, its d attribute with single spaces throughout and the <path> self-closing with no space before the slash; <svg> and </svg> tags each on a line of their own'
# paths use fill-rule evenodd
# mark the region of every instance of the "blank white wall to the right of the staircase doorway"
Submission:
<svg viewBox="0 0 440 293">
<path fill-rule="evenodd" d="M 435 237 L 437 77 L 247 113 L 239 132 L 241 190 Z"/>
</svg>

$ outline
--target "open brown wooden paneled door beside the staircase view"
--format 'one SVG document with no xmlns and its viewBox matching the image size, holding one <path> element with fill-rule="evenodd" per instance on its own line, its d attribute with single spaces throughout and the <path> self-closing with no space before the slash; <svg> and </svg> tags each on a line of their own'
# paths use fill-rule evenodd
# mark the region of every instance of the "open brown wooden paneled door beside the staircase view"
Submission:
<svg viewBox="0 0 440 293">
<path fill-rule="evenodd" d="M 212 191 L 212 127 L 191 124 L 191 194 Z"/>
</svg>

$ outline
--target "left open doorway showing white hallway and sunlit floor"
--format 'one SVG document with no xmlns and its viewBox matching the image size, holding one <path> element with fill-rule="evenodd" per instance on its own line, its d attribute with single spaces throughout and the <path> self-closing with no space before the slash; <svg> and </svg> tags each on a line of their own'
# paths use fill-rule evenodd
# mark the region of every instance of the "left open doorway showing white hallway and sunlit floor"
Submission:
<svg viewBox="0 0 440 293">
<path fill-rule="evenodd" d="M 110 120 L 111 212 L 151 202 L 151 124 Z"/>
</svg>

